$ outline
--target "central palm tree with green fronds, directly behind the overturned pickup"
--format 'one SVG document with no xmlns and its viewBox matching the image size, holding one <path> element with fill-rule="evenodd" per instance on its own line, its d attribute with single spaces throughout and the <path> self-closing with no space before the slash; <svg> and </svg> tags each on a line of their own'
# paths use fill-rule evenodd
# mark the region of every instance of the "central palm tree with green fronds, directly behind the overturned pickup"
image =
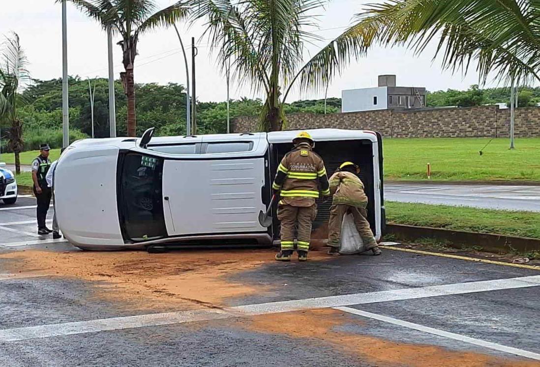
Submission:
<svg viewBox="0 0 540 367">
<path fill-rule="evenodd" d="M 309 28 L 316 26 L 313 12 L 322 10 L 323 4 L 322 0 L 192 2 L 192 8 L 198 9 L 193 18 L 207 19 L 204 34 L 211 48 L 218 51 L 218 65 L 231 65 L 232 77 L 239 83 L 264 92 L 265 103 L 259 115 L 261 131 L 284 127 L 285 101 L 297 78 L 303 79 L 302 89 L 326 86 L 326 77 L 310 79 L 303 72 L 314 61 L 304 64 L 303 52 L 306 43 L 320 39 Z M 360 52 L 351 51 L 351 55 Z M 332 62 L 342 63 L 348 58 L 346 55 Z"/>
</svg>

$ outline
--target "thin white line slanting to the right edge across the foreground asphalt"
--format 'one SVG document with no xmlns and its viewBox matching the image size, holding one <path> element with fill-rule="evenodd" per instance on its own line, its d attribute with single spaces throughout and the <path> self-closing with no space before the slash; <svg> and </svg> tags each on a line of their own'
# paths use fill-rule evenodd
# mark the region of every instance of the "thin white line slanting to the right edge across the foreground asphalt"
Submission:
<svg viewBox="0 0 540 367">
<path fill-rule="evenodd" d="M 529 352 L 527 350 L 512 348 L 511 346 L 501 345 L 497 343 L 491 343 L 491 342 L 484 341 L 482 339 L 471 338 L 465 335 L 455 334 L 454 332 L 438 330 L 438 329 L 430 328 L 430 327 L 423 326 L 420 324 L 398 320 L 397 318 L 387 317 L 383 315 L 372 314 L 372 312 L 361 311 L 361 310 L 357 310 L 350 307 L 334 307 L 334 309 L 340 310 L 343 312 L 348 312 L 349 314 L 359 315 L 362 317 L 373 318 L 374 320 L 388 322 L 390 324 L 399 325 L 404 328 L 427 332 L 429 334 L 442 336 L 444 338 L 454 339 L 460 342 L 483 346 L 484 348 L 489 348 L 489 349 L 497 350 L 500 352 L 514 354 L 516 356 L 536 359 L 537 361 L 540 361 L 540 354 Z"/>
</svg>

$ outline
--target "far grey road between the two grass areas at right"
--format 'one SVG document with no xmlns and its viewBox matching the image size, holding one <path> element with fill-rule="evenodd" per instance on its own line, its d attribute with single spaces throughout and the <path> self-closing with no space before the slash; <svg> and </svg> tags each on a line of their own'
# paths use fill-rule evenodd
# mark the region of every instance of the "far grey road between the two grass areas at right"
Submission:
<svg viewBox="0 0 540 367">
<path fill-rule="evenodd" d="M 399 184 L 386 182 L 392 201 L 540 212 L 540 186 Z"/>
</svg>

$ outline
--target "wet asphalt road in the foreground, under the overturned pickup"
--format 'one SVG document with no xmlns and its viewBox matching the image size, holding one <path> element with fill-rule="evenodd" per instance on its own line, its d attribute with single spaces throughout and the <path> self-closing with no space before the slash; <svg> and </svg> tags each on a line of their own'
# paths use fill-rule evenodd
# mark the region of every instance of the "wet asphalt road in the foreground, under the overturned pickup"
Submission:
<svg viewBox="0 0 540 367">
<path fill-rule="evenodd" d="M 540 366 L 535 269 L 390 249 L 278 263 L 268 250 L 253 252 L 260 261 L 248 269 L 202 276 L 201 295 L 184 307 L 145 308 L 97 296 L 118 281 L 90 281 L 78 271 L 19 273 L 10 256 L 30 249 L 58 261 L 73 254 L 92 262 L 95 254 L 35 235 L 34 204 L 21 198 L 0 206 L 3 366 Z M 184 254 L 167 256 L 180 269 Z M 113 256 L 120 263 L 127 255 Z M 150 271 L 163 255 L 140 256 L 147 259 L 141 269 Z M 181 270 L 167 274 L 174 271 Z M 216 281 L 251 291 L 219 304 L 199 302 Z"/>
</svg>

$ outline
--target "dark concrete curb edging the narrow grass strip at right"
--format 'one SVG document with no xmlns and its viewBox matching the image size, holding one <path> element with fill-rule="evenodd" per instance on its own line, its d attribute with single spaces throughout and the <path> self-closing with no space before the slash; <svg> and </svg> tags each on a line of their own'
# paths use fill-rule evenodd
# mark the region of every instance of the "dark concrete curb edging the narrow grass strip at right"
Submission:
<svg viewBox="0 0 540 367">
<path fill-rule="evenodd" d="M 529 252 L 540 250 L 540 240 L 528 237 L 513 237 L 491 233 L 465 232 L 433 227 L 417 227 L 387 223 L 386 233 L 393 234 L 402 241 L 413 241 L 420 238 L 431 238 L 451 243 L 452 247 L 462 248 L 481 246 L 487 252 Z"/>
</svg>

